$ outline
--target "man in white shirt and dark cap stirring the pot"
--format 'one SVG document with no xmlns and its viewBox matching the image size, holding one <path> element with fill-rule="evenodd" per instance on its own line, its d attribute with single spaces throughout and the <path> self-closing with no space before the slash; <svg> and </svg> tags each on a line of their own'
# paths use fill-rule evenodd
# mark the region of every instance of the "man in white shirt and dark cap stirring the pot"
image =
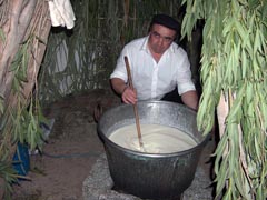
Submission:
<svg viewBox="0 0 267 200">
<path fill-rule="evenodd" d="M 166 14 L 156 14 L 149 33 L 126 44 L 110 76 L 113 90 L 125 103 L 160 100 L 176 88 L 181 101 L 197 110 L 198 96 L 191 81 L 187 53 L 174 42 L 178 22 Z M 129 60 L 134 90 L 128 87 L 125 57 Z"/>
</svg>

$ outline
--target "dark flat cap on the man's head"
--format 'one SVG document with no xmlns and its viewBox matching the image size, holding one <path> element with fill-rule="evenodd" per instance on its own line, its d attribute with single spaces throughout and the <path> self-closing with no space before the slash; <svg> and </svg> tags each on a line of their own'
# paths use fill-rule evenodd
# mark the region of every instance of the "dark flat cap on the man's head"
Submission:
<svg viewBox="0 0 267 200">
<path fill-rule="evenodd" d="M 175 30 L 176 32 L 179 32 L 179 23 L 174 18 L 167 14 L 155 14 L 152 18 L 152 21 L 150 23 L 150 28 L 152 24 L 161 24 L 164 27 L 167 27 L 169 29 Z"/>
</svg>

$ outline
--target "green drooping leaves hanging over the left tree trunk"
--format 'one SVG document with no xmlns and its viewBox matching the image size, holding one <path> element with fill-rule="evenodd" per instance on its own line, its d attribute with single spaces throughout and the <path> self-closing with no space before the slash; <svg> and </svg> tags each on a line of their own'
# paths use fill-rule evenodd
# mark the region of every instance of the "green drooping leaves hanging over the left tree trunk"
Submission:
<svg viewBox="0 0 267 200">
<path fill-rule="evenodd" d="M 12 169 L 12 161 L 10 159 L 12 159 L 14 151 L 10 147 L 17 147 L 17 142 L 20 142 L 28 144 L 31 150 L 34 150 L 36 148 L 41 149 L 44 141 L 40 122 L 47 122 L 47 119 L 42 114 L 38 96 L 31 91 L 28 100 L 22 92 L 23 83 L 28 81 L 27 73 L 33 39 L 34 37 L 30 37 L 21 43 L 10 67 L 10 72 L 13 73 L 11 91 L 16 99 L 16 106 L 10 103 L 4 108 L 0 102 L 0 108 L 2 108 L 0 126 L 0 177 L 4 180 L 6 199 L 11 198 L 12 184 L 18 181 L 18 178 L 26 179 L 24 176 L 19 176 Z M 3 100 L 2 98 L 2 102 Z"/>
</svg>

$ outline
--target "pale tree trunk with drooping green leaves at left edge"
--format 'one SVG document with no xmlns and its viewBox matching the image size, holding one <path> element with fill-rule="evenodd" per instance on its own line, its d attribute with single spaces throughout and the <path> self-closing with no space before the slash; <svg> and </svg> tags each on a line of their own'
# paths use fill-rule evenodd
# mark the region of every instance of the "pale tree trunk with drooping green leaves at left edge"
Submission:
<svg viewBox="0 0 267 200">
<path fill-rule="evenodd" d="M 46 1 L 1 1 L 0 13 L 0 199 L 11 199 L 17 142 L 43 141 L 37 76 L 51 24 Z"/>
</svg>

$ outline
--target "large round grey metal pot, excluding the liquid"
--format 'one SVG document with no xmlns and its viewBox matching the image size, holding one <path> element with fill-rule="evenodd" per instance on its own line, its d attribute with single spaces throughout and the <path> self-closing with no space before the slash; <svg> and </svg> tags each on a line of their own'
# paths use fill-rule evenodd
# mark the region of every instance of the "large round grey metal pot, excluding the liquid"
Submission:
<svg viewBox="0 0 267 200">
<path fill-rule="evenodd" d="M 174 153 L 145 153 L 122 148 L 111 140 L 115 130 L 135 123 L 134 107 L 121 104 L 103 113 L 98 133 L 103 141 L 115 188 L 144 199 L 179 199 L 191 184 L 201 150 L 208 139 L 197 131 L 196 112 L 167 101 L 138 101 L 140 124 L 157 123 L 190 134 L 197 146 Z"/>
</svg>

